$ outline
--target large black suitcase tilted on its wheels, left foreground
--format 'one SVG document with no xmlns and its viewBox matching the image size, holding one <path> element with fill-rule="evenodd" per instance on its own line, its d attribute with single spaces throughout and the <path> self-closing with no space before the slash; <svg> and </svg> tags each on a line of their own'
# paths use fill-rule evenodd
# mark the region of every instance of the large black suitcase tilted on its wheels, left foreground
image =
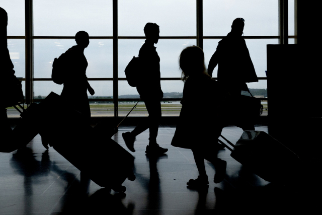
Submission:
<svg viewBox="0 0 322 215">
<path fill-rule="evenodd" d="M 106 130 L 108 126 L 92 128 L 82 120 L 81 113 L 65 108 L 64 103 L 60 96 L 50 93 L 39 104 L 42 110 L 50 113 L 43 122 L 42 135 L 59 154 L 95 183 L 125 191 L 121 188 L 124 180 L 127 177 L 135 179 L 132 171 L 134 157 L 112 140 L 111 135 L 106 135 L 111 133 Z"/>
</svg>

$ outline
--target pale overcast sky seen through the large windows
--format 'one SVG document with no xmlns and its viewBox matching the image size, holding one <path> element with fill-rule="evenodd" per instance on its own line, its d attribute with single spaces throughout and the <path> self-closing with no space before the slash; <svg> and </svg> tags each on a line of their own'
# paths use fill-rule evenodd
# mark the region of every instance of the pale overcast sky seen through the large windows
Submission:
<svg viewBox="0 0 322 215">
<path fill-rule="evenodd" d="M 24 0 L 0 0 L 0 7 L 8 13 L 8 35 L 25 35 Z M 245 19 L 245 36 L 278 35 L 278 0 L 204 0 L 204 36 L 225 36 L 233 19 Z M 196 36 L 196 0 L 120 0 L 118 2 L 119 36 L 144 36 L 147 22 L 160 26 L 160 36 Z M 84 30 L 90 36 L 112 36 L 112 0 L 34 0 L 35 36 L 74 36 Z M 294 35 L 294 1 L 289 1 L 289 34 Z M 204 39 L 205 64 L 216 50 L 219 40 Z M 119 77 L 144 40 L 119 40 Z M 278 39 L 247 39 L 258 77 L 266 77 L 266 45 L 277 44 Z M 294 43 L 294 39 L 290 40 Z M 159 40 L 155 45 L 160 56 L 161 76 L 180 77 L 178 57 L 187 45 L 196 40 Z M 34 77 L 50 78 L 52 60 L 59 57 L 74 40 L 34 40 Z M 8 48 L 17 71 L 25 77 L 24 40 L 9 39 Z M 89 61 L 89 78 L 112 78 L 112 40 L 91 40 L 85 55 Z M 213 77 L 216 77 L 216 72 Z M 91 82 L 97 96 L 113 95 L 112 82 Z M 250 88 L 267 88 L 266 81 L 248 84 Z M 162 82 L 164 92 L 182 92 L 181 81 Z M 53 82 L 34 82 L 35 95 L 61 92 L 62 86 Z M 126 81 L 119 82 L 119 94 L 137 94 Z"/>
</svg>

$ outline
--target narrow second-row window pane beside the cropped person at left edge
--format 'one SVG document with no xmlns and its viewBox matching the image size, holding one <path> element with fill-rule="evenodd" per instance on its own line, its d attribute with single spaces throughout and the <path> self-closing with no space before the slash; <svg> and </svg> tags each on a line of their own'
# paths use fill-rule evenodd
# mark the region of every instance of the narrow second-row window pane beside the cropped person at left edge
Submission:
<svg viewBox="0 0 322 215">
<path fill-rule="evenodd" d="M 17 78 L 25 78 L 26 70 L 26 51 L 24 39 L 8 39 L 8 50 L 10 53 L 10 59 L 14 64 L 15 76 Z"/>
</svg>

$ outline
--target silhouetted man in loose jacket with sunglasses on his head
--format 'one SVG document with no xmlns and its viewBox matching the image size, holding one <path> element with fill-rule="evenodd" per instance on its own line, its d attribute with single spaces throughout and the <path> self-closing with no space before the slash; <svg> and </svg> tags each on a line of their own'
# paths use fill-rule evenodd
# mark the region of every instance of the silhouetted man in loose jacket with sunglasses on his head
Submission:
<svg viewBox="0 0 322 215">
<path fill-rule="evenodd" d="M 218 82 L 231 96 L 239 96 L 241 91 L 248 92 L 246 83 L 258 82 L 245 39 L 241 37 L 244 25 L 243 18 L 236 18 L 232 22 L 230 33 L 219 41 L 217 50 L 208 65 L 208 74 L 212 76 L 212 72 L 218 64 Z M 243 130 L 255 130 L 254 125 L 237 126 Z"/>
</svg>

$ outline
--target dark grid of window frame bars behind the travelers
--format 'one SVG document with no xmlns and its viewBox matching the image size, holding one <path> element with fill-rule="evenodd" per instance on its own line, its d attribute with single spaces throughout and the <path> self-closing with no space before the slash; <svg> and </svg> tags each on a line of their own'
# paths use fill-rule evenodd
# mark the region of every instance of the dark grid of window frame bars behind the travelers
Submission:
<svg viewBox="0 0 322 215">
<path fill-rule="evenodd" d="M 279 44 L 288 44 L 289 38 L 294 38 L 297 43 L 297 0 L 294 7 L 294 35 L 288 35 L 288 0 L 279 0 L 279 35 L 276 36 L 245 36 L 245 39 L 279 39 Z M 163 39 L 196 39 L 197 46 L 203 48 L 204 39 L 222 39 L 224 36 L 203 36 L 203 1 L 196 0 L 196 36 L 163 36 Z M 113 0 L 113 36 L 91 36 L 90 39 L 111 39 L 113 40 L 113 78 L 89 78 L 89 81 L 113 81 L 113 99 L 90 99 L 90 101 L 113 101 L 114 117 L 118 117 L 118 102 L 121 101 L 138 101 L 139 99 L 119 99 L 118 82 L 126 81 L 126 78 L 118 78 L 118 41 L 123 39 L 145 39 L 142 36 L 119 36 L 118 35 L 118 0 Z M 35 81 L 52 81 L 49 78 L 33 77 L 33 42 L 34 39 L 75 39 L 72 36 L 33 36 L 33 0 L 25 0 L 25 36 L 7 36 L 7 39 L 25 39 L 26 43 L 26 76 L 19 79 L 25 81 L 27 105 L 33 102 L 41 102 L 41 99 L 33 98 L 33 84 Z M 215 80 L 217 78 L 214 78 Z M 180 78 L 161 78 L 161 81 L 178 81 Z M 266 77 L 259 77 L 259 80 L 267 80 Z M 178 98 L 166 98 L 162 101 L 179 101 Z M 263 98 L 261 100 L 268 100 Z"/>
</svg>

